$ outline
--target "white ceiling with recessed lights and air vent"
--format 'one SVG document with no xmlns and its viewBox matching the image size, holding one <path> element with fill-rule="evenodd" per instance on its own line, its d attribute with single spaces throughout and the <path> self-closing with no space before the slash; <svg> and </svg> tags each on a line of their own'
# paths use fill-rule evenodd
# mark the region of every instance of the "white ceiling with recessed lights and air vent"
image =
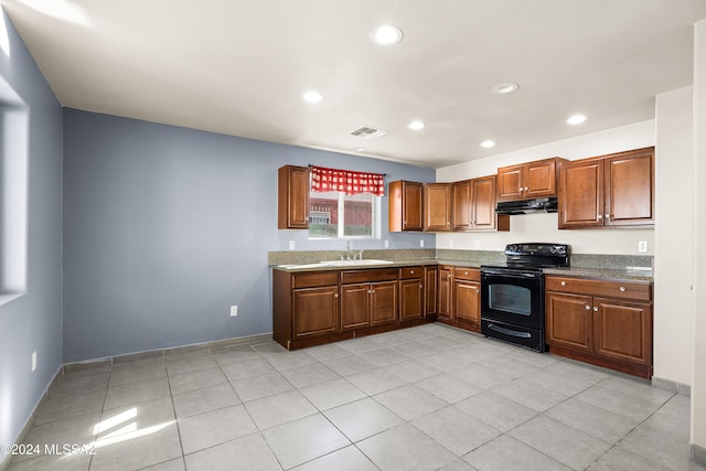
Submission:
<svg viewBox="0 0 706 471">
<path fill-rule="evenodd" d="M 706 0 L 1 3 L 63 106 L 430 168 L 654 118 L 693 83 L 706 18 Z M 399 44 L 371 42 L 383 23 Z"/>
</svg>

